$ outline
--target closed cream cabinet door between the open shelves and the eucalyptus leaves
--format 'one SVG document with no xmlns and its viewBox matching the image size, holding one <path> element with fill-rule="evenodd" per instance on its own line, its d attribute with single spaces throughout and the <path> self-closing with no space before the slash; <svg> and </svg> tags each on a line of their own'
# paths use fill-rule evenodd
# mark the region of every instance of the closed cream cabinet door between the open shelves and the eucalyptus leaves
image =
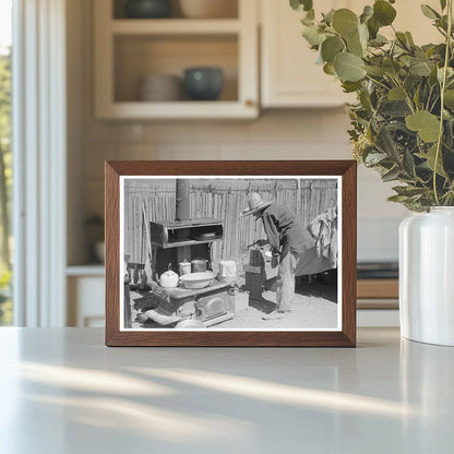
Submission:
<svg viewBox="0 0 454 454">
<path fill-rule="evenodd" d="M 327 12 L 349 2 L 319 0 L 316 11 Z M 333 76 L 315 64 L 316 52 L 301 36 L 303 13 L 286 0 L 262 0 L 262 106 L 333 107 L 348 99 Z M 347 7 L 349 8 L 349 5 Z"/>
</svg>

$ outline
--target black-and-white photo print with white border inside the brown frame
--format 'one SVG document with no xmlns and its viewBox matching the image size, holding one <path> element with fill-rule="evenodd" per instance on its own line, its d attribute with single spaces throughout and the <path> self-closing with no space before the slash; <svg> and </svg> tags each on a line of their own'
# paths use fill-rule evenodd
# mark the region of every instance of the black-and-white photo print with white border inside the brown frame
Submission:
<svg viewBox="0 0 454 454">
<path fill-rule="evenodd" d="M 339 177 L 120 178 L 120 330 L 340 331 Z"/>
</svg>

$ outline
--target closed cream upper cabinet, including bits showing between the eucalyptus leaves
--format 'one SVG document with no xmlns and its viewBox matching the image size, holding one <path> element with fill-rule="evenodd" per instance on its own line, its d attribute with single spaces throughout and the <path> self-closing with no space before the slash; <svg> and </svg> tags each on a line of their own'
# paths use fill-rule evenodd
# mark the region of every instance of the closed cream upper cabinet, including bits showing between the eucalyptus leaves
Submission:
<svg viewBox="0 0 454 454">
<path fill-rule="evenodd" d="M 319 0 L 315 11 L 349 8 L 359 13 L 368 0 Z M 426 2 L 437 10 L 438 0 Z M 423 16 L 419 4 L 401 1 L 395 27 L 410 31 L 416 44 L 440 41 L 430 21 Z M 288 1 L 261 0 L 261 101 L 264 108 L 336 107 L 355 99 L 346 95 L 339 82 L 315 64 L 316 52 L 302 38 L 300 17 L 303 13 L 291 10 Z M 390 27 L 381 33 L 390 35 Z"/>
</svg>

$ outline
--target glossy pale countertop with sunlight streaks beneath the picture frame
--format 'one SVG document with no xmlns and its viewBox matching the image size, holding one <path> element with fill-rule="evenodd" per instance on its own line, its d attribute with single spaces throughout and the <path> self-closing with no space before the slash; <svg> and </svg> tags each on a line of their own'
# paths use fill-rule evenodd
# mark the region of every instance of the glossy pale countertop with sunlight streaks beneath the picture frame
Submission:
<svg viewBox="0 0 454 454">
<path fill-rule="evenodd" d="M 0 328 L 0 453 L 450 453 L 454 348 L 106 348 Z"/>
</svg>

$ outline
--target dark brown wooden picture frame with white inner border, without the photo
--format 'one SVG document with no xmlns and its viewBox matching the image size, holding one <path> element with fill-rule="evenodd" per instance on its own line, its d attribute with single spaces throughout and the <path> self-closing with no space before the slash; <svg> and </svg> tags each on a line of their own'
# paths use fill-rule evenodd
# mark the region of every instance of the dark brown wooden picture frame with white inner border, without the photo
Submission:
<svg viewBox="0 0 454 454">
<path fill-rule="evenodd" d="M 356 239 L 357 164 L 354 160 L 208 160 L 106 162 L 106 345 L 203 347 L 355 347 L 356 346 Z M 342 216 L 338 246 L 342 278 L 339 328 L 333 331 L 124 331 L 120 326 L 123 258 L 120 256 L 120 180 L 122 177 L 232 178 L 299 177 L 338 178 Z M 276 177 L 278 176 L 278 177 Z M 124 181 L 122 179 L 121 181 Z"/>
</svg>

